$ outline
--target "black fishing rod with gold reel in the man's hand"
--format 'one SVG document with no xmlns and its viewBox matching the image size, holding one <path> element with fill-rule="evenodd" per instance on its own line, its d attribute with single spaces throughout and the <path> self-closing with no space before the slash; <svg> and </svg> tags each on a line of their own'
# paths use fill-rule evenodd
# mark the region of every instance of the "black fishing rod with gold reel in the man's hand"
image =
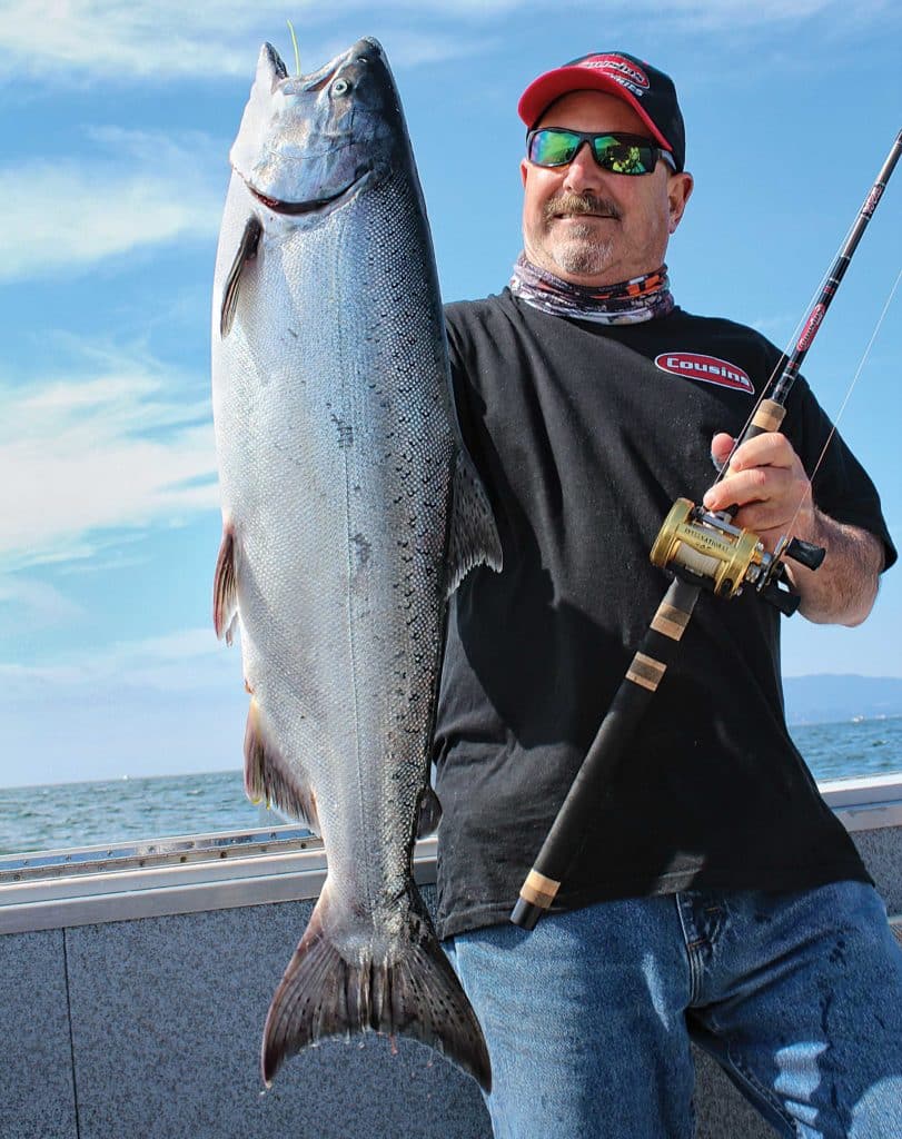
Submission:
<svg viewBox="0 0 902 1139">
<path fill-rule="evenodd" d="M 786 415 L 786 400 L 802 361 L 823 323 L 852 254 L 874 216 L 901 154 L 902 131 L 896 136 L 877 181 L 821 286 L 792 352 L 785 353 L 774 368 L 777 378 L 773 379 L 772 376 L 765 385 L 716 481 L 729 473 L 730 460 L 743 443 L 765 432 L 780 429 Z M 650 560 L 661 568 L 671 570 L 674 579 L 651 618 L 539 857 L 520 887 L 519 898 L 510 915 L 515 925 L 524 929 L 534 928 L 542 913 L 554 903 L 582 845 L 599 795 L 616 771 L 667 666 L 676 656 L 680 638 L 686 632 L 702 590 L 716 597 L 731 598 L 748 584 L 763 600 L 774 605 L 787 616 L 798 608 L 800 598 L 789 588 L 785 559 L 792 558 L 810 570 L 817 570 L 823 562 L 826 551 L 811 542 L 784 536 L 773 552 L 769 554 L 756 534 L 732 524 L 738 509 L 738 506 L 733 506 L 710 514 L 704 507 L 681 498 L 664 519 L 651 547 Z"/>
</svg>

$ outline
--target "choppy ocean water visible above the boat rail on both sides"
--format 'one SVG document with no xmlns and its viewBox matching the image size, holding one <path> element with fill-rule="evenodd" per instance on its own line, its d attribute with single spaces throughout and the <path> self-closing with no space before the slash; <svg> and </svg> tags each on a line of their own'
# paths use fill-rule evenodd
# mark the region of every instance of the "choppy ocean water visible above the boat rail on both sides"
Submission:
<svg viewBox="0 0 902 1139">
<path fill-rule="evenodd" d="M 790 730 L 819 780 L 902 772 L 902 716 Z M 245 798 L 237 770 L 0 788 L 0 854 L 254 830 L 282 821 Z"/>
</svg>

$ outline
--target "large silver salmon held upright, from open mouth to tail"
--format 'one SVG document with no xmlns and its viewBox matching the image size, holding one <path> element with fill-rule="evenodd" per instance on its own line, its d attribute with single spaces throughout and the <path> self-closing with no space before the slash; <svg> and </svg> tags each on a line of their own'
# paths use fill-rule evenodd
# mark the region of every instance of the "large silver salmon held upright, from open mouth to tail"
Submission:
<svg viewBox="0 0 902 1139">
<path fill-rule="evenodd" d="M 501 549 L 454 419 L 423 195 L 392 74 L 360 40 L 311 75 L 273 48 L 231 150 L 213 405 L 214 621 L 240 626 L 245 785 L 328 876 L 273 997 L 263 1077 L 318 1040 L 489 1056 L 411 877 L 445 603 Z"/>
</svg>

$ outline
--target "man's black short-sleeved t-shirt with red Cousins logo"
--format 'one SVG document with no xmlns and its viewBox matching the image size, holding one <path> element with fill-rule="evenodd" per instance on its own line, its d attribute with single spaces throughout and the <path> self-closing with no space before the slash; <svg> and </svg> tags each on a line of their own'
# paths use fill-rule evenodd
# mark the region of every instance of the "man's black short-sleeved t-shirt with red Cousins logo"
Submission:
<svg viewBox="0 0 902 1139">
<path fill-rule="evenodd" d="M 435 735 L 440 933 L 507 920 L 667 587 L 648 552 L 714 480 L 780 353 L 679 309 L 637 325 L 549 316 L 508 290 L 446 310 L 464 437 L 495 511 L 501 574 L 449 615 Z M 829 423 L 803 379 L 784 431 L 806 470 Z M 836 436 L 814 500 L 895 560 L 879 499 Z M 689 886 L 870 880 L 784 719 L 779 613 L 700 597 L 555 908 Z"/>
</svg>

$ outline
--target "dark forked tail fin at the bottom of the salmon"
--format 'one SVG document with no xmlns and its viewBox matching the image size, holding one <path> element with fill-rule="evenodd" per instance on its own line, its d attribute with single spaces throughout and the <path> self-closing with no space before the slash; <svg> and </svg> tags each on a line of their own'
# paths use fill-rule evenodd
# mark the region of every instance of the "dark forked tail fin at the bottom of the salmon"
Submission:
<svg viewBox="0 0 902 1139">
<path fill-rule="evenodd" d="M 412 887 L 416 891 L 416 886 Z M 375 1031 L 413 1036 L 469 1072 L 486 1091 L 491 1066 L 479 1022 L 442 952 L 419 896 L 391 954 L 376 960 L 355 948 L 353 960 L 328 932 L 326 888 L 285 976 L 263 1030 L 266 1087 L 284 1060 L 330 1036 Z"/>
</svg>

